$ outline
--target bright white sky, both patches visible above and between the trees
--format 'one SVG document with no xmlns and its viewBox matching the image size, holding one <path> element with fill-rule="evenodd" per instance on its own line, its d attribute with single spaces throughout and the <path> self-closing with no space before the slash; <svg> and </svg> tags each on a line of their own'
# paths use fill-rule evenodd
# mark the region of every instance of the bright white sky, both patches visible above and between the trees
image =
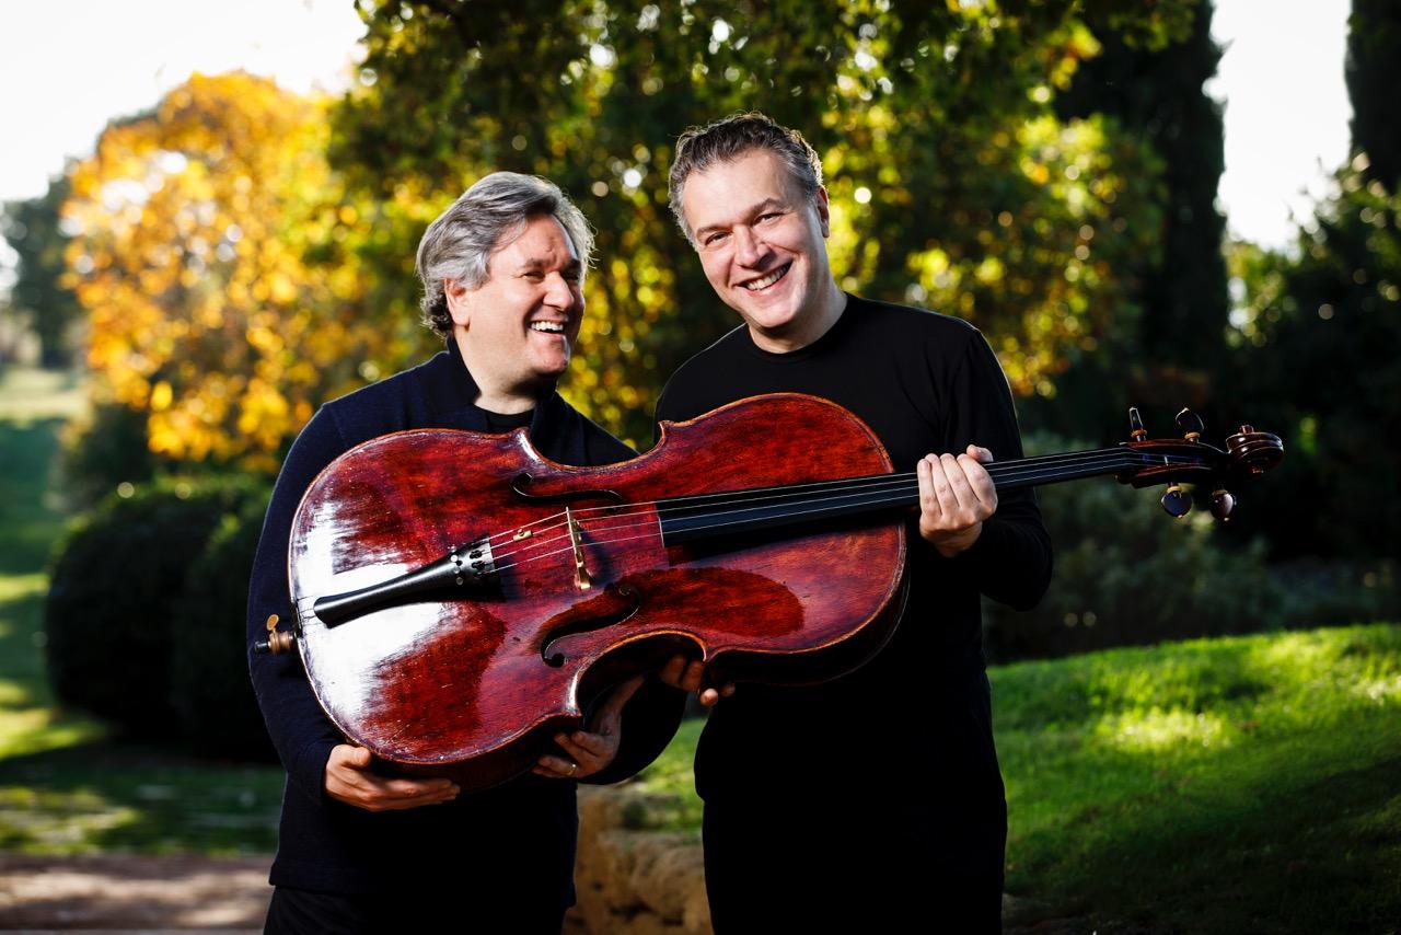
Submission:
<svg viewBox="0 0 1401 935">
<path fill-rule="evenodd" d="M 1325 171 L 1346 157 L 1348 7 L 1216 3 L 1227 50 L 1209 90 L 1226 101 L 1220 200 L 1238 237 L 1288 243 L 1290 207 L 1307 216 L 1302 192 L 1321 195 Z M 350 0 L 0 0 L 0 200 L 43 193 L 109 118 L 154 105 L 193 70 L 342 88 L 364 31 Z"/>
</svg>

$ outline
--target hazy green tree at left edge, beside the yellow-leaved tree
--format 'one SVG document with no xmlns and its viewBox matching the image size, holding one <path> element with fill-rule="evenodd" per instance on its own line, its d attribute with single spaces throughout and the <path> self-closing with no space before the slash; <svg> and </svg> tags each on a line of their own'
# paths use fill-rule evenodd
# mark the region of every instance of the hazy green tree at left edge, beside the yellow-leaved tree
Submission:
<svg viewBox="0 0 1401 935">
<path fill-rule="evenodd" d="M 0 214 L 0 234 L 18 255 L 10 304 L 22 325 L 38 336 L 39 363 L 45 367 L 73 363 L 73 329 L 83 314 L 73 290 L 63 282 L 69 236 L 59 219 L 59 206 L 67 195 L 67 178 L 59 175 L 43 195 L 10 202 Z"/>
</svg>

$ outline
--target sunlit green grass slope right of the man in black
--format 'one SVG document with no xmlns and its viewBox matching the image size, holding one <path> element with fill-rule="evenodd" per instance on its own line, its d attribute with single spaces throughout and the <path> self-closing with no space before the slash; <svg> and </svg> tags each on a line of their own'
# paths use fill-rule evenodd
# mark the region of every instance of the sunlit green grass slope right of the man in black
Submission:
<svg viewBox="0 0 1401 935">
<path fill-rule="evenodd" d="M 993 671 L 1012 893 L 1191 932 L 1395 931 L 1401 627 Z"/>
</svg>

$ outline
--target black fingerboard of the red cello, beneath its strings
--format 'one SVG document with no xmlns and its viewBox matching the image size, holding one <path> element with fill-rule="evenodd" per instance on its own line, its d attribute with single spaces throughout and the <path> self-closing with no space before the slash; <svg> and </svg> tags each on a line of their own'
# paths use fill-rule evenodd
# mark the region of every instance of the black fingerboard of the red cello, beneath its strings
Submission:
<svg viewBox="0 0 1401 935">
<path fill-rule="evenodd" d="M 1152 464 L 1152 456 L 1132 449 L 1098 449 L 1045 454 L 986 465 L 999 491 L 1059 484 L 1086 477 L 1121 474 Z M 661 534 L 668 544 L 737 535 L 785 526 L 806 526 L 866 513 L 919 505 L 916 474 L 794 484 L 787 486 L 727 491 L 657 502 Z"/>
</svg>

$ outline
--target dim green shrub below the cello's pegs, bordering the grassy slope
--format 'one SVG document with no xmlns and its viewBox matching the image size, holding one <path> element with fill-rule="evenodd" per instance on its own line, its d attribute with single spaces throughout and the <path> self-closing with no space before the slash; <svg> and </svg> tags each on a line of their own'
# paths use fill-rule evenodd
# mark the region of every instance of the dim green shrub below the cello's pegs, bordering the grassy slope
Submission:
<svg viewBox="0 0 1401 935">
<path fill-rule="evenodd" d="M 1027 449 L 1089 446 L 1031 436 Z M 1268 478 L 1262 482 L 1268 482 Z M 1236 491 L 1250 509 L 1250 491 Z M 985 636 L 998 660 L 1063 656 L 1107 646 L 1255 632 L 1282 625 L 1278 585 L 1262 542 L 1230 547 L 1203 509 L 1184 520 L 1159 506 L 1160 489 L 1111 478 L 1041 488 L 1055 571 L 1026 614 L 988 601 Z"/>
</svg>

